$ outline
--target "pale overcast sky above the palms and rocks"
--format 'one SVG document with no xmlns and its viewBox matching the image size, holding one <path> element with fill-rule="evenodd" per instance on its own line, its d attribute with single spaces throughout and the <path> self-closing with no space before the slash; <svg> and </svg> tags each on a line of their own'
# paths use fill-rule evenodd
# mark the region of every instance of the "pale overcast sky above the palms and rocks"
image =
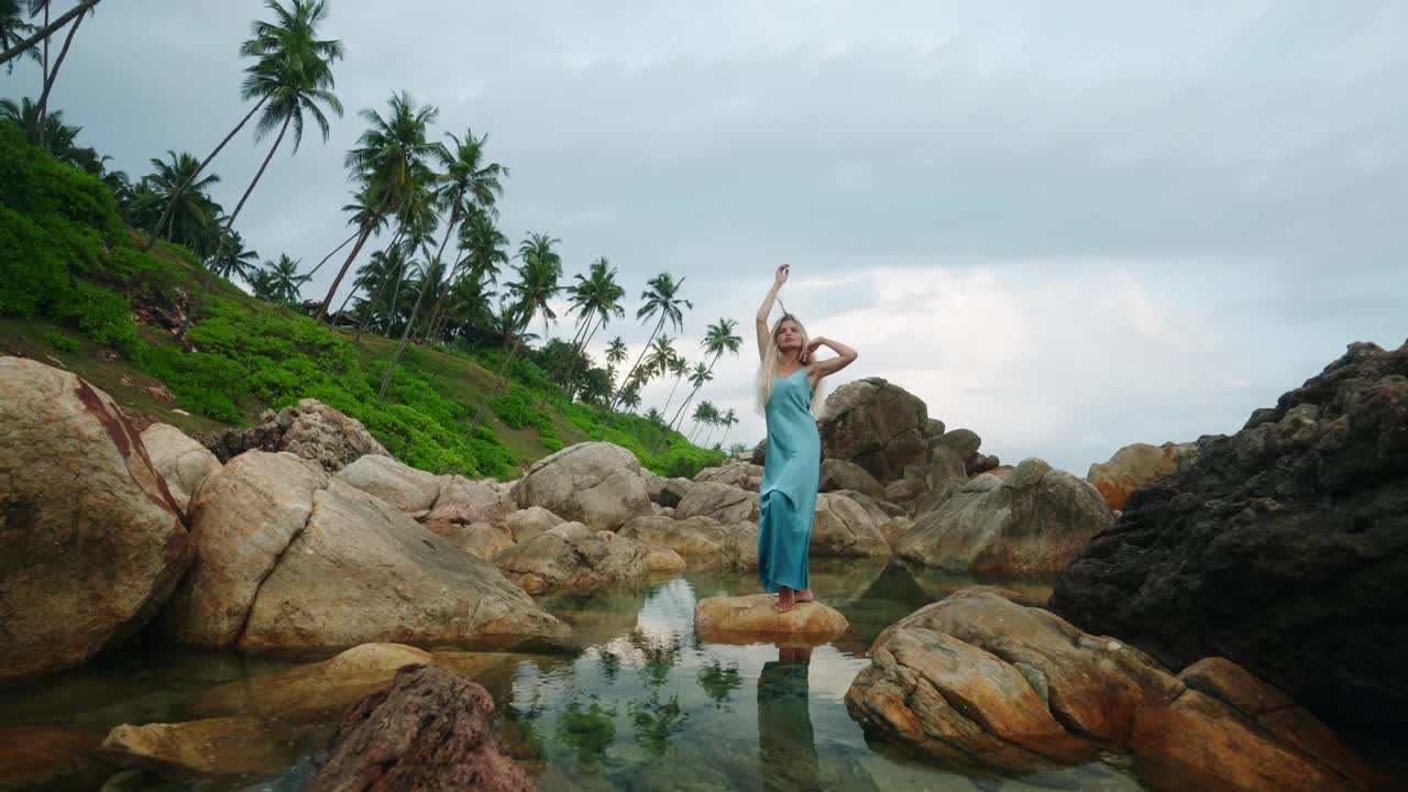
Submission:
<svg viewBox="0 0 1408 792">
<path fill-rule="evenodd" d="M 569 276 L 607 256 L 632 314 L 646 278 L 687 276 L 691 361 L 739 321 L 704 392 L 743 419 L 729 441 L 763 435 L 750 317 L 780 262 L 787 307 L 860 351 L 828 390 L 883 376 L 1004 461 L 1079 474 L 1232 433 L 1350 341 L 1408 337 L 1408 3 L 329 6 L 348 113 L 275 161 L 249 244 L 311 266 L 345 238 L 356 111 L 407 89 L 438 134 L 489 132 L 514 248 L 549 231 Z M 244 113 L 255 17 L 104 3 L 54 104 L 134 176 L 203 156 Z M 0 83 L 38 93 L 30 66 Z M 215 161 L 227 207 L 262 154 Z"/>
</svg>

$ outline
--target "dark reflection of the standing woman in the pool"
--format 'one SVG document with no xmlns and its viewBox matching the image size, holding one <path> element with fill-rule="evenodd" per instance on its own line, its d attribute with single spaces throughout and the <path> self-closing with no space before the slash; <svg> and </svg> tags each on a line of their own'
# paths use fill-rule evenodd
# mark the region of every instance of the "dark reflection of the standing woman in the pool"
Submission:
<svg viewBox="0 0 1408 792">
<path fill-rule="evenodd" d="M 821 789 L 817 743 L 807 707 L 810 648 L 777 650 L 758 676 L 758 755 L 763 789 Z"/>
</svg>

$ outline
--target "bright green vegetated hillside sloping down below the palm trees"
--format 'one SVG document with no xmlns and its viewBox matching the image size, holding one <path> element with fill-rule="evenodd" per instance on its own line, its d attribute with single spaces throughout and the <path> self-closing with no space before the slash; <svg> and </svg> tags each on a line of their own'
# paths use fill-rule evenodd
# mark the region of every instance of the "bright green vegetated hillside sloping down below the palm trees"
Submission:
<svg viewBox="0 0 1408 792">
<path fill-rule="evenodd" d="M 148 255 L 144 242 L 122 223 L 108 185 L 0 123 L 0 352 L 80 373 L 125 409 L 197 437 L 314 397 L 360 420 L 407 464 L 434 472 L 513 478 L 524 464 L 600 433 L 598 404 L 538 410 L 546 392 L 560 395 L 549 383 L 553 362 L 529 348 L 511 361 L 507 386 L 466 438 L 494 382 L 501 335 L 480 337 L 480 345 L 411 344 L 379 402 L 394 341 L 358 338 L 217 278 L 179 344 L 173 330 L 204 268 L 183 247 L 163 241 Z M 175 403 L 165 403 L 158 386 Z M 605 440 L 662 474 L 690 475 L 722 458 L 679 433 L 652 454 L 662 431 L 618 414 Z"/>
</svg>

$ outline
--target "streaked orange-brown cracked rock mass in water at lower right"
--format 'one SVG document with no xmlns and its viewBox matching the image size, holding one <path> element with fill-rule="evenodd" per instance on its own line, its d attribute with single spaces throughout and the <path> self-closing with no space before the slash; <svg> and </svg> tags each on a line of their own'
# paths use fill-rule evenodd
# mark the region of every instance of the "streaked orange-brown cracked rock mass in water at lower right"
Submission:
<svg viewBox="0 0 1408 792">
<path fill-rule="evenodd" d="M 852 717 L 949 767 L 1025 774 L 1115 753 L 1132 754 L 1153 789 L 1388 788 L 1240 669 L 1178 678 L 995 593 L 960 590 L 917 610 L 876 638 L 870 658 L 846 693 Z"/>
</svg>

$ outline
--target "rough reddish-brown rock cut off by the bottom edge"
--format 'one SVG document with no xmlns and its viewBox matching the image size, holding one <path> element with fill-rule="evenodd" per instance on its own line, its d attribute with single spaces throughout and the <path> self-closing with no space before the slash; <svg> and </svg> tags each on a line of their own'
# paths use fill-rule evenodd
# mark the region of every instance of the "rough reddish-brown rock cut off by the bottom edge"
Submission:
<svg viewBox="0 0 1408 792">
<path fill-rule="evenodd" d="M 469 676 L 407 667 L 338 723 L 308 792 L 536 789 L 501 753 L 494 699 Z"/>
</svg>

